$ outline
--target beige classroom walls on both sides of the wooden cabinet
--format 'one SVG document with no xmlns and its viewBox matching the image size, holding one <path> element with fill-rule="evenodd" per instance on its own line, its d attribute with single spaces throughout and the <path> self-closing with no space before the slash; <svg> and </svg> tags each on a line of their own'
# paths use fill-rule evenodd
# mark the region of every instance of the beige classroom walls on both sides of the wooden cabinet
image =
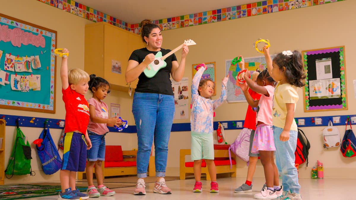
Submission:
<svg viewBox="0 0 356 200">
<path fill-rule="evenodd" d="M 57 47 L 68 48 L 70 51 L 69 68 L 84 69 L 84 27 L 90 22 L 68 12 L 61 11 L 52 6 L 48 6 L 35 0 L 18 0 L 17 6 L 13 6 L 11 1 L 2 2 L 1 12 L 5 15 L 25 20 L 39 26 L 56 30 Z M 187 57 L 186 70 L 184 77 L 192 79 L 191 65 L 201 62 L 216 62 L 216 80 L 220 80 L 225 75 L 225 59 L 231 59 L 239 54 L 244 57 L 261 56 L 252 47 L 252 43 L 257 38 L 268 38 L 271 41 L 271 53 L 284 50 L 298 49 L 308 50 L 323 47 L 334 47 L 345 45 L 345 58 L 347 69 L 347 92 L 349 110 L 329 111 L 329 112 L 303 112 L 303 102 L 299 100 L 295 117 L 328 116 L 328 115 L 348 115 L 355 114 L 356 107 L 352 104 L 354 99 L 352 80 L 356 70 L 352 67 L 355 62 L 352 55 L 356 54 L 353 49 L 355 45 L 354 32 L 356 28 L 351 22 L 355 19 L 353 7 L 355 1 L 341 1 L 333 4 L 312 6 L 303 9 L 278 12 L 268 15 L 247 17 L 244 19 L 229 20 L 224 22 L 199 25 L 177 30 L 163 31 L 164 48 L 173 49 L 183 42 L 183 40 L 193 39 L 197 45 L 190 46 Z M 36 13 L 36 15 L 28 14 Z M 337 19 L 335 18 L 337 17 Z M 176 53 L 180 60 L 180 51 Z M 64 104 L 61 95 L 61 83 L 59 77 L 60 59 L 57 62 L 56 76 L 56 114 L 44 114 L 40 112 L 28 112 L 19 110 L 0 109 L 1 114 L 48 117 L 54 119 L 64 119 Z M 220 85 L 217 81 L 216 88 L 220 94 Z M 89 98 L 91 95 L 87 94 Z M 300 98 L 303 97 L 302 90 L 299 90 Z M 112 91 L 105 100 L 106 104 L 117 103 L 121 105 L 121 115 L 128 116 L 129 125 L 134 125 L 131 114 L 132 99 L 127 93 Z M 230 103 L 220 106 L 215 112 L 214 121 L 244 120 L 247 103 Z M 235 112 L 231 112 L 235 111 Z M 174 120 L 174 123 L 189 123 L 187 120 Z M 344 134 L 344 126 L 337 126 L 340 134 Z M 325 178 L 344 177 L 356 178 L 351 173 L 355 167 L 353 158 L 343 158 L 338 148 L 324 150 L 322 148 L 321 130 L 324 127 L 305 127 L 304 132 L 311 142 L 309 150 L 309 167 L 303 164 L 299 170 L 300 177 L 310 177 L 310 168 L 317 159 L 324 163 Z M 38 138 L 41 128 L 22 127 L 21 130 L 27 135 L 28 141 Z M 6 127 L 6 148 L 5 165 L 7 164 L 12 146 L 14 144 L 15 127 Z M 226 141 L 232 143 L 240 130 L 225 130 Z M 53 140 L 57 143 L 61 130 L 51 129 Z M 136 134 L 110 133 L 106 136 L 106 144 L 122 145 L 123 149 L 129 150 L 137 148 Z M 172 132 L 169 141 L 167 175 L 179 175 L 179 149 L 190 148 L 190 132 Z M 31 144 L 32 170 L 36 172 L 35 177 L 15 176 L 5 179 L 5 184 L 29 183 L 36 181 L 59 180 L 59 173 L 45 175 L 40 169 L 40 161 L 37 159 L 35 146 Z M 342 168 L 340 168 L 341 166 Z M 238 175 L 245 177 L 247 167 L 241 160 L 237 167 Z M 339 173 L 340 171 L 344 173 Z M 262 177 L 262 166 L 256 170 L 256 176 Z"/>
</svg>

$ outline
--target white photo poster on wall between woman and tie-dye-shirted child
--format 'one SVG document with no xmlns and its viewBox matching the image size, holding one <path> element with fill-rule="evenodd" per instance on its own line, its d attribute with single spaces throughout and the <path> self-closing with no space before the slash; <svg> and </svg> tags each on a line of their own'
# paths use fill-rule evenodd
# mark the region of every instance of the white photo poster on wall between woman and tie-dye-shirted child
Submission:
<svg viewBox="0 0 356 200">
<path fill-rule="evenodd" d="M 174 94 L 174 105 L 176 107 L 174 119 L 188 119 L 188 77 L 183 77 L 179 82 L 172 79 L 171 81 Z"/>
</svg>

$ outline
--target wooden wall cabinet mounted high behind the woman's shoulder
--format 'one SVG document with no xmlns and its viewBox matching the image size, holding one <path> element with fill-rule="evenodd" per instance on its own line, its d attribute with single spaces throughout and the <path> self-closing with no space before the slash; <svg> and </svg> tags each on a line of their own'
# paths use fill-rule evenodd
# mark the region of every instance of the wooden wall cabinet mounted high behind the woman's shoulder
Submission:
<svg viewBox="0 0 356 200">
<path fill-rule="evenodd" d="M 103 77 L 111 89 L 127 92 L 125 81 L 127 61 L 133 50 L 145 47 L 141 36 L 106 22 L 85 26 L 84 70 Z M 121 74 L 111 71 L 112 60 L 121 62 Z M 115 63 L 116 64 L 116 63 Z M 138 79 L 131 83 L 136 88 Z"/>
</svg>

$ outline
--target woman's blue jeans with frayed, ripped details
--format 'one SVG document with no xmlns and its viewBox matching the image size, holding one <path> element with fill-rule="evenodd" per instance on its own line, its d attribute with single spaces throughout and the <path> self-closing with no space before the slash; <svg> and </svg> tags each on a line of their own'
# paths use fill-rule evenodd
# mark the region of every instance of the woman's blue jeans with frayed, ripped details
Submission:
<svg viewBox="0 0 356 200">
<path fill-rule="evenodd" d="M 132 114 L 137 128 L 137 177 L 147 177 L 153 140 L 155 142 L 156 177 L 164 177 L 168 140 L 174 117 L 174 96 L 135 92 Z"/>
</svg>

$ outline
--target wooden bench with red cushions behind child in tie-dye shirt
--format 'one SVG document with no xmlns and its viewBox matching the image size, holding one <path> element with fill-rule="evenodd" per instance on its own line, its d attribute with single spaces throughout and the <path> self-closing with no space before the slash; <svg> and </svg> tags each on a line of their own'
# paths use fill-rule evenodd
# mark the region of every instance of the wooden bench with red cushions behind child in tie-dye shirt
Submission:
<svg viewBox="0 0 356 200">
<path fill-rule="evenodd" d="M 232 168 L 230 169 L 229 150 L 214 149 L 214 163 L 216 166 L 216 174 L 231 173 L 231 177 L 236 177 L 236 158 L 233 152 L 231 153 Z M 190 155 L 190 149 L 180 149 L 179 152 L 179 179 L 184 180 L 186 174 L 194 174 L 193 162 L 185 162 L 185 156 Z M 206 174 L 206 180 L 211 180 L 208 167 L 203 160 L 201 163 L 201 174 Z"/>
</svg>

